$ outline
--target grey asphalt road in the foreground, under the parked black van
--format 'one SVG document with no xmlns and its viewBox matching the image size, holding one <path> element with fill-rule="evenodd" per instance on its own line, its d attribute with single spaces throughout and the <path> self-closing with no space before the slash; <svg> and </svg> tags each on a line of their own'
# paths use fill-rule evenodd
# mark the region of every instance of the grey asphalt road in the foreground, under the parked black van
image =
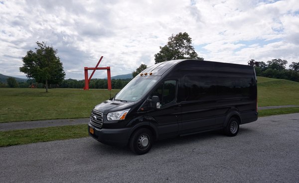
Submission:
<svg viewBox="0 0 299 183">
<path fill-rule="evenodd" d="M 298 183 L 299 113 L 259 118 L 236 137 L 159 141 L 146 155 L 81 138 L 0 148 L 1 183 Z"/>
</svg>

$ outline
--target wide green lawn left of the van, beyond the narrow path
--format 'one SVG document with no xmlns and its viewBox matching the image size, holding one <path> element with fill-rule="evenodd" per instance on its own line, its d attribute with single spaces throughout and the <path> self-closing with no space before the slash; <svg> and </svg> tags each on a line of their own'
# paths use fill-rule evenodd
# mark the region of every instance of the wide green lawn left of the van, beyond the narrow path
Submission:
<svg viewBox="0 0 299 183">
<path fill-rule="evenodd" d="M 112 90 L 114 96 L 120 90 Z M 89 117 L 96 104 L 110 98 L 107 89 L 0 88 L 0 122 Z"/>
</svg>

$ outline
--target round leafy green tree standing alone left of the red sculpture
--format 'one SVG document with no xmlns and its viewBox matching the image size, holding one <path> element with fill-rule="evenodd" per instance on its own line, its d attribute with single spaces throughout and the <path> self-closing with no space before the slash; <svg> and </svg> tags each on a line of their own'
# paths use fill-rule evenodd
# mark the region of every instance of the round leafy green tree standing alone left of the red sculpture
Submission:
<svg viewBox="0 0 299 183">
<path fill-rule="evenodd" d="M 20 72 L 26 74 L 28 78 L 34 78 L 36 82 L 43 83 L 48 92 L 49 84 L 59 84 L 65 77 L 60 58 L 56 56 L 57 50 L 52 46 L 47 46 L 45 42 L 36 42 L 35 52 L 27 51 L 22 58 L 23 67 Z"/>
</svg>

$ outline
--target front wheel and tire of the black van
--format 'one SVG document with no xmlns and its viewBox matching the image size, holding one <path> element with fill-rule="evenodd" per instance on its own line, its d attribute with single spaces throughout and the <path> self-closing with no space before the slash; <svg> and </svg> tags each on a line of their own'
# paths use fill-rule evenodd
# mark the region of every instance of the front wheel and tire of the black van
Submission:
<svg viewBox="0 0 299 183">
<path fill-rule="evenodd" d="M 136 154 L 142 155 L 149 152 L 153 142 L 152 133 L 147 128 L 136 130 L 130 138 L 130 149 Z"/>
</svg>

